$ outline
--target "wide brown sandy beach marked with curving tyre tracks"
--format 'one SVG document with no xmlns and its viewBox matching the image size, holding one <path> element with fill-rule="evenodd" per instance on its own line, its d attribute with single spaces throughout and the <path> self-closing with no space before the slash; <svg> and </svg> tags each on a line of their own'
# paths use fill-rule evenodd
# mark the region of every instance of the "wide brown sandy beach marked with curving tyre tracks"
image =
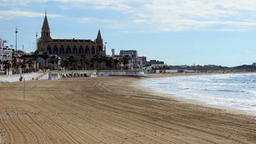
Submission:
<svg viewBox="0 0 256 144">
<path fill-rule="evenodd" d="M 256 116 L 94 77 L 0 84 L 0 143 L 256 143 Z M 135 87 L 134 87 L 135 86 Z"/>
</svg>

